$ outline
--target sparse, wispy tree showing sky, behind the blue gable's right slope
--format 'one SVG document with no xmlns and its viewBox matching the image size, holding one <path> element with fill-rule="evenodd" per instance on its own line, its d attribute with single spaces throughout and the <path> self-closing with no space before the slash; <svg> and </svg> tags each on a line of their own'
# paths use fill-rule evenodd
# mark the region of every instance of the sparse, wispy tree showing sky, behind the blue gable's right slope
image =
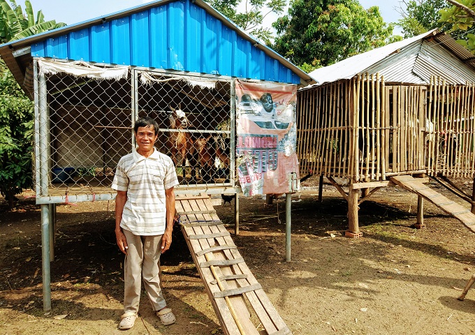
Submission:
<svg viewBox="0 0 475 335">
<path fill-rule="evenodd" d="M 282 14 L 286 0 L 205 0 L 211 6 L 226 15 L 238 27 L 247 33 L 270 44 L 272 32 L 262 27 L 264 19 L 270 13 Z M 244 1 L 244 11 L 238 12 L 238 6 Z"/>
</svg>

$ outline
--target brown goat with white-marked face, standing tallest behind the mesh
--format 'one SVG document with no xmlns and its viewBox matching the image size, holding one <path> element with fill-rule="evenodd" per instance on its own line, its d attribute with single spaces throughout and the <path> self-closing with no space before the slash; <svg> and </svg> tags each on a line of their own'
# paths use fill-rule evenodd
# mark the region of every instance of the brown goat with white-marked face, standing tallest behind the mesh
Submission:
<svg viewBox="0 0 475 335">
<path fill-rule="evenodd" d="M 167 140 L 167 147 L 170 149 L 170 156 L 175 163 L 175 166 L 181 166 L 183 172 L 183 179 L 186 176 L 185 165 L 187 164 L 187 158 L 193 156 L 193 140 L 191 134 L 184 131 L 189 126 L 187 115 L 183 112 L 181 104 L 177 109 L 170 107 L 172 114 L 170 114 L 170 129 L 174 129 L 170 133 Z"/>
</svg>

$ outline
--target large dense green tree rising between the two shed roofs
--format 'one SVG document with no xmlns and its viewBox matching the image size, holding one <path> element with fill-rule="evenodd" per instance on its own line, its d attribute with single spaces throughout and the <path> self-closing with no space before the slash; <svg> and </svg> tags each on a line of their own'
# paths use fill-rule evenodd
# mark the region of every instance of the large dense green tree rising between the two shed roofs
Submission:
<svg viewBox="0 0 475 335">
<path fill-rule="evenodd" d="M 365 10 L 357 0 L 292 0 L 272 27 L 274 50 L 306 70 L 386 45 L 393 34 L 377 6 Z"/>
</svg>

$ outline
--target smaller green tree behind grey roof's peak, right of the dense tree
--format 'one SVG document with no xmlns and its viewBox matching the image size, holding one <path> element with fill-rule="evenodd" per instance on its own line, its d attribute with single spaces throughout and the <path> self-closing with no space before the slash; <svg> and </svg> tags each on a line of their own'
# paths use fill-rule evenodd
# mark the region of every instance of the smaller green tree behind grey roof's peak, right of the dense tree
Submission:
<svg viewBox="0 0 475 335">
<path fill-rule="evenodd" d="M 402 28 L 404 38 L 423 34 L 432 29 L 448 30 L 443 22 L 439 22 L 439 10 L 448 8 L 445 0 L 401 0 L 398 12 L 402 19 L 397 26 Z"/>
</svg>

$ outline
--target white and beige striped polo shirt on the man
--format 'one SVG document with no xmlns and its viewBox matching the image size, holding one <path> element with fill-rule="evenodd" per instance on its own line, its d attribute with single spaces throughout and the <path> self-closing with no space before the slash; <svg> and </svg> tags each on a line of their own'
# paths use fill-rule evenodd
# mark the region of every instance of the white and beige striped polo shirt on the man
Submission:
<svg viewBox="0 0 475 335">
<path fill-rule="evenodd" d="M 178 184 L 170 157 L 154 148 L 149 157 L 131 154 L 120 158 L 112 189 L 127 191 L 120 226 L 136 235 L 161 235 L 166 228 L 165 190 Z"/>
</svg>

